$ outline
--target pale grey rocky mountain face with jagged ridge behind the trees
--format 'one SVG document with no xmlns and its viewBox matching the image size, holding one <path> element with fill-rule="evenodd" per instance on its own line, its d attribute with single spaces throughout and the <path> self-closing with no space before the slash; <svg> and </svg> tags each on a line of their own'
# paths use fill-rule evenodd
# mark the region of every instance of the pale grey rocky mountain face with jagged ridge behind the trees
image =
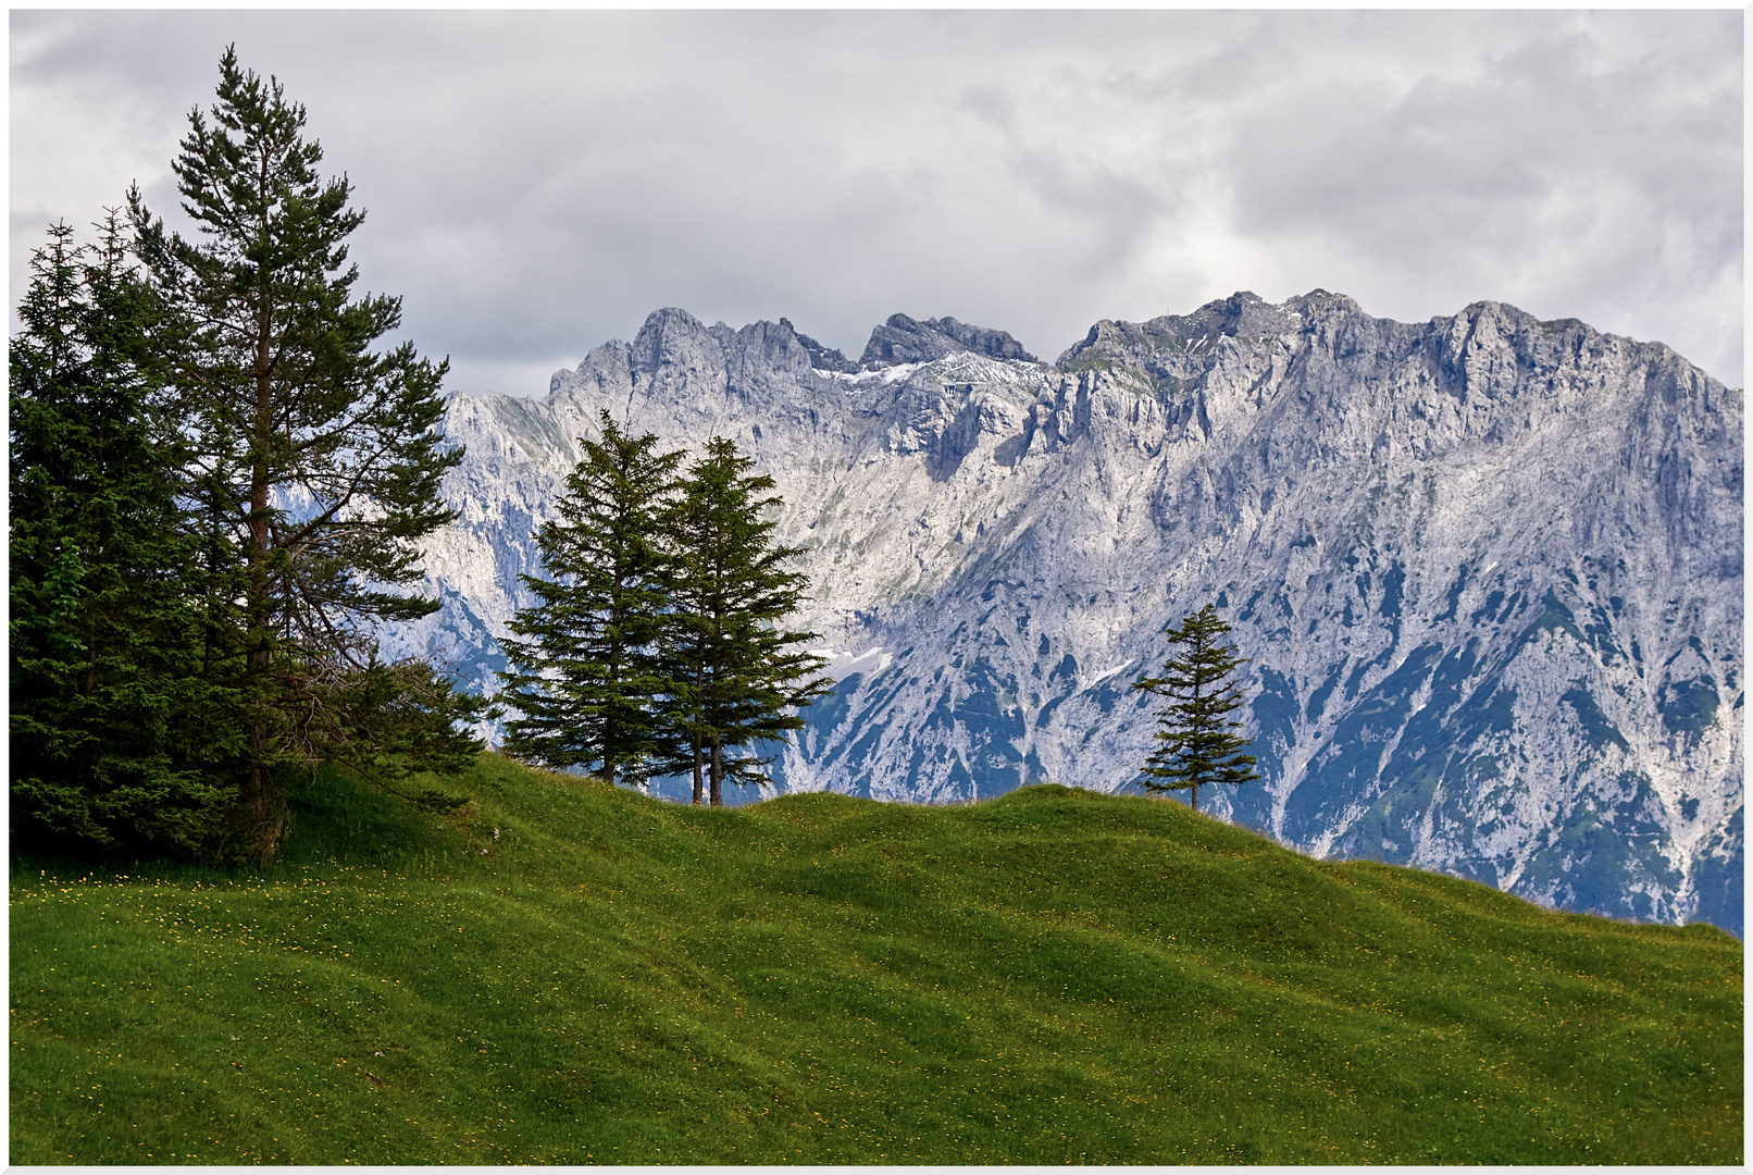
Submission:
<svg viewBox="0 0 1753 1175">
<path fill-rule="evenodd" d="M 777 787 L 1122 787 L 1153 730 L 1127 686 L 1215 602 L 1266 779 L 1208 810 L 1741 933 L 1741 391 L 1578 321 L 1406 324 L 1325 291 L 1103 321 L 1054 365 L 896 316 L 852 368 L 787 321 L 671 309 L 545 400 L 452 396 L 445 609 L 387 644 L 493 687 L 529 535 L 607 407 L 778 481 L 841 680 Z"/>
</svg>

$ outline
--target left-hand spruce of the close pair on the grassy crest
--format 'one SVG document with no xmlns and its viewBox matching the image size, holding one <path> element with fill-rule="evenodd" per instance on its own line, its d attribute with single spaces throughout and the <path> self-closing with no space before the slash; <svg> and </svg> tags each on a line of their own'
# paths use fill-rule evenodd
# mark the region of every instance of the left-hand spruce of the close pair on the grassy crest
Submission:
<svg viewBox="0 0 1753 1175">
<path fill-rule="evenodd" d="M 659 517 L 675 491 L 682 452 L 657 437 L 628 437 L 605 410 L 601 440 L 556 500 L 557 519 L 536 542 L 549 579 L 524 575 L 540 598 L 512 621 L 501 647 L 514 665 L 503 698 L 522 712 L 505 749 L 550 766 L 596 765 L 610 784 L 643 784 L 659 751 L 656 659 L 668 607 Z"/>
</svg>

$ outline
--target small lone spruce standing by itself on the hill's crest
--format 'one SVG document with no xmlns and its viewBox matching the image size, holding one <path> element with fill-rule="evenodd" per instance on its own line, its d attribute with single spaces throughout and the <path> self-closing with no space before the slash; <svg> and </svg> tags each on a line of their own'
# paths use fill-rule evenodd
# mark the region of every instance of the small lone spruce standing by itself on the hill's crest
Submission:
<svg viewBox="0 0 1753 1175">
<path fill-rule="evenodd" d="M 1236 668 L 1246 665 L 1234 649 L 1222 644 L 1229 624 L 1213 605 L 1204 605 L 1182 624 L 1169 626 L 1169 640 L 1185 647 L 1162 666 L 1162 677 L 1145 677 L 1132 684 L 1167 698 L 1157 717 L 1157 749 L 1145 761 L 1138 784 L 1148 791 L 1189 789 L 1194 810 L 1204 784 L 1246 784 L 1260 779 L 1253 756 L 1241 749 L 1248 740 L 1238 735 L 1241 723 L 1229 714 L 1241 705 Z"/>
</svg>

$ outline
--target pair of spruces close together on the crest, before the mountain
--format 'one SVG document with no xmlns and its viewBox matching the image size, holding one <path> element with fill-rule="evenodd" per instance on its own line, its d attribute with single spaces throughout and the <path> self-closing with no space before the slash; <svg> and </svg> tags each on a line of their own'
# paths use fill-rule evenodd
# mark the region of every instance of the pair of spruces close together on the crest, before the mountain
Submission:
<svg viewBox="0 0 1753 1175">
<path fill-rule="evenodd" d="M 540 603 L 503 645 L 521 710 L 505 749 L 610 782 L 692 775 L 694 803 L 719 807 L 726 780 L 761 779 L 759 744 L 803 726 L 787 710 L 831 687 L 803 647 L 815 635 L 778 628 L 808 580 L 773 540 L 773 479 L 726 438 L 682 474 L 680 451 L 607 410 L 582 444 L 536 535 L 554 579 L 524 577 Z"/>
</svg>

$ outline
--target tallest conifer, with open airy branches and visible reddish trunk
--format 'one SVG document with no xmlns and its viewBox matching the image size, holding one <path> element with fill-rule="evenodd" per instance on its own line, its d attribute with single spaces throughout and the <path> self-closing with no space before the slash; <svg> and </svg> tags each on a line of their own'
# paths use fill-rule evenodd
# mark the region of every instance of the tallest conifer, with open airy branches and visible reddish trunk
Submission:
<svg viewBox="0 0 1753 1175">
<path fill-rule="evenodd" d="M 401 300 L 354 291 L 345 240 L 365 212 L 345 177 L 317 174 L 321 160 L 303 107 L 226 49 L 212 118 L 189 114 L 172 163 L 196 239 L 130 193 L 135 249 L 167 310 L 154 347 L 179 393 L 182 491 L 203 528 L 209 656 L 244 705 L 233 851 L 259 859 L 286 831 L 275 768 L 380 758 L 382 716 L 358 707 L 382 687 L 424 682 L 394 709 L 436 744 L 480 712 L 429 666 L 372 668 L 375 623 L 438 607 L 398 588 L 419 579 L 415 540 L 454 517 L 438 486 L 461 451 L 438 431 L 447 363 L 407 342 L 373 349 Z"/>
</svg>

